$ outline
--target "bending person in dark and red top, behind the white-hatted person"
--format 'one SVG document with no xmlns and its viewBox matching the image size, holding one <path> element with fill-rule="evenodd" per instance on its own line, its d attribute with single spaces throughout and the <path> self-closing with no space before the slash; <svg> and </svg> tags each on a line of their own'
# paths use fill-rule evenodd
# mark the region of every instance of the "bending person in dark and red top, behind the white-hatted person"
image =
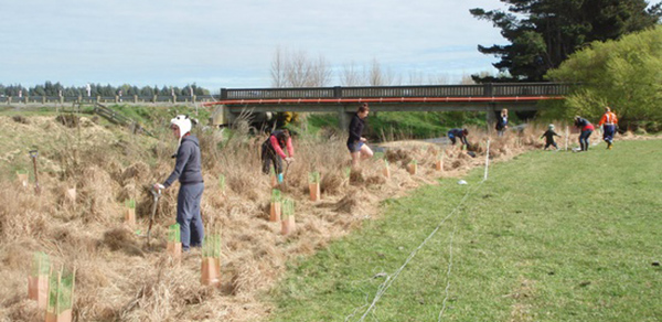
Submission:
<svg viewBox="0 0 662 322">
<path fill-rule="evenodd" d="M 285 154 L 284 149 L 287 149 L 289 157 Z M 282 159 L 287 163 L 295 161 L 292 138 L 287 129 L 271 132 L 261 146 L 263 172 L 269 174 L 269 170 L 274 165 L 278 183 L 282 183 Z"/>
</svg>

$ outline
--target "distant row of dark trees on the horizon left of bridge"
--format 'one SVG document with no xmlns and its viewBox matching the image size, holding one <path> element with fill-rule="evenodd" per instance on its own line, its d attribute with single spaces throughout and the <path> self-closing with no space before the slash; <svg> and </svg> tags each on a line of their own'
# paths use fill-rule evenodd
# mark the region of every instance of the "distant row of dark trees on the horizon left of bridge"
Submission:
<svg viewBox="0 0 662 322">
<path fill-rule="evenodd" d="M 88 87 L 85 86 L 64 86 L 57 83 L 45 82 L 43 85 L 35 85 L 32 87 L 24 87 L 20 84 L 17 85 L 2 85 L 0 84 L 0 96 L 63 96 L 63 97 L 77 97 L 87 96 Z M 142 86 L 138 87 L 135 85 L 125 84 L 121 86 L 102 85 L 102 84 L 89 84 L 89 96 L 191 96 L 191 95 L 210 95 L 210 90 L 202 88 L 195 84 L 190 84 L 184 87 L 178 86 Z"/>
</svg>

